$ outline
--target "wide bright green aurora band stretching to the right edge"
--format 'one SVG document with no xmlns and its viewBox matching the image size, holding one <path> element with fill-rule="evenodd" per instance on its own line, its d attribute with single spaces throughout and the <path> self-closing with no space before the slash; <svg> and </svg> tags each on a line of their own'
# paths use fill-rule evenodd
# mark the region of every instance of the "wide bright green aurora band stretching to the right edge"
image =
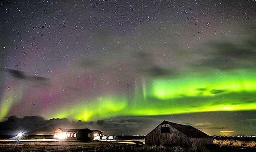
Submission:
<svg viewBox="0 0 256 152">
<path fill-rule="evenodd" d="M 90 121 L 119 116 L 256 110 L 255 69 L 209 73 L 143 81 L 132 97 L 115 94 L 80 99 L 72 107 L 47 117 Z"/>
</svg>

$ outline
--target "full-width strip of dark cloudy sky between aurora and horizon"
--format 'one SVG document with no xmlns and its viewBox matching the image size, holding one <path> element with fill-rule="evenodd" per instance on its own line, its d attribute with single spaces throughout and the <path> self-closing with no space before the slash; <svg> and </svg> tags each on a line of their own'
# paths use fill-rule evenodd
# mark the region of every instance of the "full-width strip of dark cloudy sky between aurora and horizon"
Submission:
<svg viewBox="0 0 256 152">
<path fill-rule="evenodd" d="M 53 131 L 57 128 L 90 128 L 99 129 L 104 134 L 109 135 L 143 135 L 154 129 L 161 121 L 167 120 L 192 125 L 208 132 L 210 135 L 222 135 L 219 131 L 223 129 L 234 130 L 240 132 L 241 135 L 252 135 L 256 129 L 255 113 L 255 111 L 217 111 L 145 117 L 117 117 L 89 122 L 69 121 L 67 119 L 45 120 L 40 116 L 25 116 L 23 118 L 10 116 L 6 121 L 0 122 L 0 134 L 15 134 L 18 130 L 24 130 L 27 134 L 53 134 Z M 213 119 L 216 117 L 218 119 Z M 248 128 L 248 126 L 250 127 Z M 230 133 L 230 135 L 232 134 Z"/>
</svg>

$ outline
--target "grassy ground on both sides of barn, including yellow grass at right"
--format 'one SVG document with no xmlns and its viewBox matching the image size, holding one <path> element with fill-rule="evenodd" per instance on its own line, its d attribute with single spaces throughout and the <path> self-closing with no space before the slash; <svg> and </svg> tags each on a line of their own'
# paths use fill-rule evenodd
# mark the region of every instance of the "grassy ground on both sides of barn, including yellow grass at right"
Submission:
<svg viewBox="0 0 256 152">
<path fill-rule="evenodd" d="M 43 139 L 1 139 L 0 152 L 189 152 L 188 148 L 180 146 L 145 146 L 132 144 L 133 139 L 118 139 L 112 141 L 80 142 L 71 140 Z M 143 141 L 143 139 L 134 139 Z M 238 141 L 235 138 L 215 138 L 215 144 L 206 146 L 208 152 L 255 152 L 252 139 Z M 232 144 L 230 144 L 232 143 Z M 235 143 L 235 144 L 234 144 Z M 243 143 L 239 145 L 237 143 Z M 236 145 L 237 144 L 237 145 Z M 249 146 L 250 145 L 250 146 Z"/>
</svg>

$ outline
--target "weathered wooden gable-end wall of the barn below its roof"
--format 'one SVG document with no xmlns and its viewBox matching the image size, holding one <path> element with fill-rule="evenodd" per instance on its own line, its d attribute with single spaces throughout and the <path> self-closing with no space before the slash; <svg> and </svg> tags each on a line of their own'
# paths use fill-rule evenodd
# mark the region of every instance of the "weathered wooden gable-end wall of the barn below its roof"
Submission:
<svg viewBox="0 0 256 152">
<path fill-rule="evenodd" d="M 169 127 L 169 133 L 161 133 L 161 127 Z M 169 124 L 162 124 L 156 127 L 145 137 L 146 145 L 185 145 L 189 146 L 189 137 Z"/>
</svg>

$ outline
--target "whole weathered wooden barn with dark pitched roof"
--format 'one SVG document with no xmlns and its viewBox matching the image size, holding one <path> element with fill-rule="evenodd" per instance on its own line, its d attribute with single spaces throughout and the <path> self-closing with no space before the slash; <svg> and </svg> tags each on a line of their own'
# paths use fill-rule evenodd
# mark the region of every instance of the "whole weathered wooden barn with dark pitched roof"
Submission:
<svg viewBox="0 0 256 152">
<path fill-rule="evenodd" d="M 213 139 L 191 125 L 161 122 L 145 137 L 146 145 L 180 145 L 201 149 L 205 144 L 213 144 Z"/>
</svg>

